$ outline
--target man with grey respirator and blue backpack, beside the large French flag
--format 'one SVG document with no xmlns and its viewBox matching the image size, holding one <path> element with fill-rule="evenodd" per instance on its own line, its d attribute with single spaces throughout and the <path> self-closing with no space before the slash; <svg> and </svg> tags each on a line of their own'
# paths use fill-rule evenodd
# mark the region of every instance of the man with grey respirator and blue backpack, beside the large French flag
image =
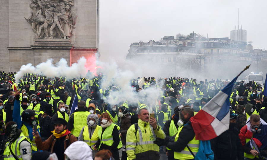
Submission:
<svg viewBox="0 0 267 160">
<path fill-rule="evenodd" d="M 184 106 L 179 111 L 179 121 L 177 122 L 179 129 L 174 138 L 174 142 L 169 141 L 169 139 L 157 139 L 154 143 L 157 145 L 166 145 L 171 151 L 174 151 L 174 159 L 193 160 L 194 156 L 189 149 L 196 155 L 200 141 L 196 140 L 195 132 L 189 121 L 192 116 L 194 116 L 193 109 L 189 105 Z"/>
</svg>

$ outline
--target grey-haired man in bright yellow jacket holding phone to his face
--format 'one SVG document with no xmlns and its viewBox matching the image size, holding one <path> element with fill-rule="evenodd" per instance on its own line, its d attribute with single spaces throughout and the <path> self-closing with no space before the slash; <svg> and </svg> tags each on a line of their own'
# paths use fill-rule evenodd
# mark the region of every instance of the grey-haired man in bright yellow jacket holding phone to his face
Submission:
<svg viewBox="0 0 267 160">
<path fill-rule="evenodd" d="M 156 138 L 164 139 L 165 133 L 149 116 L 147 108 L 138 111 L 138 122 L 131 125 L 126 136 L 126 153 L 129 160 L 159 160 L 159 146 L 153 143 Z"/>
</svg>

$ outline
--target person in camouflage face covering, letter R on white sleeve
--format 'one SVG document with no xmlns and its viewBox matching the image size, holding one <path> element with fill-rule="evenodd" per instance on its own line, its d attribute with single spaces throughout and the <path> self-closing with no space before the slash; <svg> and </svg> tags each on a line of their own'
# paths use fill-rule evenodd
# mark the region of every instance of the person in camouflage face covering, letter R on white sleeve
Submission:
<svg viewBox="0 0 267 160">
<path fill-rule="evenodd" d="M 12 159 L 13 157 L 23 160 L 31 159 L 31 143 L 23 135 L 22 130 L 18 129 L 16 122 L 7 122 L 5 135 L 7 135 L 6 149 L 4 150 L 5 159 Z"/>
</svg>

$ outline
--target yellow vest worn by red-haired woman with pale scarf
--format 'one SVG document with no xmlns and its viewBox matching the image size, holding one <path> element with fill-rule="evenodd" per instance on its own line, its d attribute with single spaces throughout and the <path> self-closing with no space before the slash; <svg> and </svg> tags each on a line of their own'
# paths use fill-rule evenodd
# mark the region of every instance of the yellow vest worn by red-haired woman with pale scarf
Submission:
<svg viewBox="0 0 267 160">
<path fill-rule="evenodd" d="M 99 145 L 99 148 L 101 146 L 101 144 L 105 144 L 105 145 L 108 145 L 108 146 L 111 146 L 113 144 L 113 137 L 112 137 L 112 132 L 113 132 L 113 129 L 114 127 L 117 127 L 118 130 L 120 130 L 120 127 L 117 126 L 116 124 L 112 123 L 109 125 L 109 127 L 107 127 L 103 134 L 102 134 L 102 130 L 103 128 L 101 127 L 98 131 L 98 137 L 100 139 L 100 145 Z M 119 136 L 120 137 L 120 136 Z M 120 143 L 118 144 L 117 148 L 122 148 L 122 143 L 121 143 L 121 139 L 120 139 Z"/>
</svg>

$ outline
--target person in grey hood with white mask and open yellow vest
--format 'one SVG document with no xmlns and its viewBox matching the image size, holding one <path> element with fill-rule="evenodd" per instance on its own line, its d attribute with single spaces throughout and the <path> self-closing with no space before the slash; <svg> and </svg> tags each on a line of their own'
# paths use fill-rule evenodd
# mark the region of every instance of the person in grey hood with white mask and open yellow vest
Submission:
<svg viewBox="0 0 267 160">
<path fill-rule="evenodd" d="M 96 114 L 89 114 L 87 117 L 87 126 L 82 127 L 78 141 L 84 141 L 92 149 L 94 144 L 98 141 L 98 131 L 101 128 L 98 126 L 98 116 Z M 97 150 L 93 150 L 93 158 L 95 157 Z"/>
</svg>

